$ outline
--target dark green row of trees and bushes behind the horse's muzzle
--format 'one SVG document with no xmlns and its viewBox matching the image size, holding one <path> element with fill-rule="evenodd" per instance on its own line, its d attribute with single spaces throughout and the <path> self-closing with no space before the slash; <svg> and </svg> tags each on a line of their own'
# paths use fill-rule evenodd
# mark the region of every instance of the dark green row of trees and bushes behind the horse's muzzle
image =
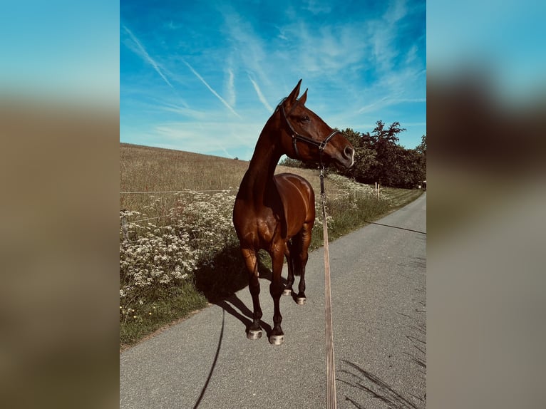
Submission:
<svg viewBox="0 0 546 409">
<path fill-rule="evenodd" d="M 413 189 L 426 180 L 426 135 L 415 149 L 406 149 L 398 144 L 398 133 L 406 130 L 400 123 L 392 123 L 388 128 L 378 120 L 371 133 L 359 133 L 351 128 L 342 132 L 355 149 L 354 166 L 343 175 L 357 182 L 382 186 Z M 280 165 L 293 167 L 314 167 L 298 160 L 286 158 Z M 331 171 L 340 172 L 335 167 Z"/>
</svg>

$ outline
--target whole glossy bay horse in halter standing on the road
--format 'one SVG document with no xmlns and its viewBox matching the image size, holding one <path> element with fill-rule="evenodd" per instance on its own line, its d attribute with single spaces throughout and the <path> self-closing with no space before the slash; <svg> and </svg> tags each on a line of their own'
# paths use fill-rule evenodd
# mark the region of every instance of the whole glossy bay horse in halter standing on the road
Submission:
<svg viewBox="0 0 546 409">
<path fill-rule="evenodd" d="M 304 304 L 306 300 L 305 266 L 315 220 L 313 188 L 298 175 L 274 175 L 277 162 L 282 155 L 287 155 L 292 159 L 320 162 L 321 166 L 333 162 L 346 169 L 354 163 L 351 143 L 339 130 L 330 128 L 316 113 L 305 107 L 307 90 L 298 99 L 301 84 L 302 80 L 299 80 L 292 93 L 277 105 L 264 125 L 233 208 L 233 224 L 249 274 L 254 307 L 247 338 L 262 336 L 257 252 L 265 249 L 272 259 L 269 293 L 274 301 L 274 326 L 269 343 L 274 345 L 284 341 L 279 299 L 283 292 L 285 295 L 292 294 L 294 274 L 300 276 L 299 293 L 295 296 L 297 304 Z M 285 256 L 288 264 L 286 288 L 281 278 Z"/>
</svg>

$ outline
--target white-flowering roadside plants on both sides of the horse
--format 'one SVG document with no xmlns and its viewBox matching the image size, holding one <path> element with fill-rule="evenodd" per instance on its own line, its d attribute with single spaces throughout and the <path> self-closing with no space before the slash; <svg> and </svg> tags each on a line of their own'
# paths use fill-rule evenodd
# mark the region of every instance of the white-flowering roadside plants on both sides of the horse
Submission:
<svg viewBox="0 0 546 409">
<path fill-rule="evenodd" d="M 375 190 L 331 174 L 336 186 L 326 192 L 329 229 L 335 236 L 358 223 L 357 214 L 374 209 Z M 185 190 L 169 201 L 150 197 L 143 212 L 120 212 L 120 320 L 140 319 L 156 294 L 180 289 L 195 271 L 213 265 L 217 254 L 238 246 L 232 224 L 234 190 L 215 194 Z M 316 192 L 316 219 L 311 248 L 322 245 L 322 205 Z M 220 284 L 224 285 L 220 279 Z M 188 283 L 189 284 L 189 283 Z M 150 314 L 145 313 L 145 314 Z"/>
</svg>

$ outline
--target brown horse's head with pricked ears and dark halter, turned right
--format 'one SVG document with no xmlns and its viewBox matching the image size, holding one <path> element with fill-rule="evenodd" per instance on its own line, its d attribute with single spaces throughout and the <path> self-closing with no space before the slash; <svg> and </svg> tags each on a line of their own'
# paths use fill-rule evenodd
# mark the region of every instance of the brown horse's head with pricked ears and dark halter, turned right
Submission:
<svg viewBox="0 0 546 409">
<path fill-rule="evenodd" d="M 299 86 L 277 107 L 284 152 L 292 159 L 334 163 L 349 169 L 354 163 L 354 147 L 339 130 L 330 128 L 319 115 L 305 107 L 307 90 L 298 99 Z"/>
</svg>

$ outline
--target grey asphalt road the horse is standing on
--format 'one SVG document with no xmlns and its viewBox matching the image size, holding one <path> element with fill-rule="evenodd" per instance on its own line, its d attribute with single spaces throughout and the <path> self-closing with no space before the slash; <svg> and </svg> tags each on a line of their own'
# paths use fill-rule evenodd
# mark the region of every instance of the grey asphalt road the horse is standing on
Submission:
<svg viewBox="0 0 546 409">
<path fill-rule="evenodd" d="M 425 408 L 426 193 L 331 242 L 329 254 L 337 407 Z M 322 249 L 309 254 L 306 284 L 304 306 L 281 299 L 282 346 L 266 333 L 246 338 L 245 288 L 124 351 L 120 408 L 324 408 Z M 260 286 L 272 325 L 269 281 Z"/>
</svg>

